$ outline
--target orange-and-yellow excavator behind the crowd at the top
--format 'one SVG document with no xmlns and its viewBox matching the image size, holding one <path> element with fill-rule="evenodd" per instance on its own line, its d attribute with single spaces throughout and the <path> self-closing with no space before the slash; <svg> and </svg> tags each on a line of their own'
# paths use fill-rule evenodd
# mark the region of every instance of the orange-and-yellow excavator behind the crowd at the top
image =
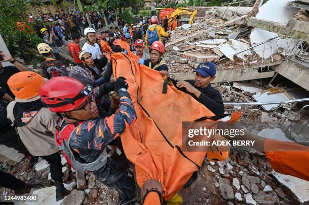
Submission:
<svg viewBox="0 0 309 205">
<path fill-rule="evenodd" d="M 175 30 L 177 26 L 180 26 L 178 24 L 178 19 L 180 19 L 181 15 L 190 15 L 190 20 L 188 23 L 193 24 L 193 21 L 197 14 L 196 9 L 188 9 L 183 7 L 179 7 L 177 9 L 157 8 L 156 10 L 159 10 L 159 20 L 167 20 L 168 28 L 170 30 Z"/>
</svg>

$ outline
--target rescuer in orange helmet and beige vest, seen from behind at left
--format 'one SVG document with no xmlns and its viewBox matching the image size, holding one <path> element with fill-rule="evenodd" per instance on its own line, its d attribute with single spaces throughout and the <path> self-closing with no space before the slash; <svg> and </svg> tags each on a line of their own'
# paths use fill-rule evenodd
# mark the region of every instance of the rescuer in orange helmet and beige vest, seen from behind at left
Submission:
<svg viewBox="0 0 309 205">
<path fill-rule="evenodd" d="M 30 154 L 48 162 L 58 201 L 70 194 L 70 191 L 63 185 L 61 157 L 54 140 L 56 126 L 61 119 L 44 106 L 38 95 L 45 81 L 47 79 L 30 71 L 14 74 L 8 80 L 8 85 L 16 98 L 8 105 L 7 112 Z"/>
</svg>

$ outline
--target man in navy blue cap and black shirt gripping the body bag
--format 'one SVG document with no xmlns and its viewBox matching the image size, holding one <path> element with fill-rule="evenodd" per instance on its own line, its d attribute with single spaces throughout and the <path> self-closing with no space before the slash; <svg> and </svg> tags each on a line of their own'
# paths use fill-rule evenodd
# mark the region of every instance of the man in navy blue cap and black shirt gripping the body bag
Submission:
<svg viewBox="0 0 309 205">
<path fill-rule="evenodd" d="M 161 73 L 162 76 L 167 74 Z M 171 79 L 177 89 L 188 93 L 199 103 L 210 109 L 214 114 L 224 114 L 221 93 L 211 86 L 216 78 L 216 65 L 212 62 L 200 63 L 196 69 L 194 80 L 175 81 Z"/>
</svg>

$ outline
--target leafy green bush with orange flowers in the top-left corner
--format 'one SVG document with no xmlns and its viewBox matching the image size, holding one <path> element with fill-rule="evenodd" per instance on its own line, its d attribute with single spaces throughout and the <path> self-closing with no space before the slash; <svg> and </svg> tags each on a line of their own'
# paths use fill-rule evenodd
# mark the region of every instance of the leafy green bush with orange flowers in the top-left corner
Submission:
<svg viewBox="0 0 309 205">
<path fill-rule="evenodd" d="M 30 3 L 24 0 L 0 1 L 0 33 L 13 56 L 19 56 L 29 62 L 36 55 L 36 46 L 42 42 L 34 29 L 17 28 L 16 22 L 28 22 L 26 11 Z M 33 31 L 31 33 L 31 30 Z"/>
</svg>

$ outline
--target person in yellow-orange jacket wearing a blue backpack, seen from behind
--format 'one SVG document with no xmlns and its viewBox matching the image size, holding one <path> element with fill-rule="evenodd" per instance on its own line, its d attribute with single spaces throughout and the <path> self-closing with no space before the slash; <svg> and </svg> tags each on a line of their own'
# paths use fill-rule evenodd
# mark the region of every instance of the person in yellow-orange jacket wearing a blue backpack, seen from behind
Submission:
<svg viewBox="0 0 309 205">
<path fill-rule="evenodd" d="M 162 26 L 159 25 L 159 20 L 157 16 L 152 16 L 150 19 L 151 25 L 148 27 L 145 36 L 145 42 L 149 48 L 151 44 L 155 41 L 163 41 L 162 37 L 170 38 L 171 36 L 164 31 Z"/>
</svg>

